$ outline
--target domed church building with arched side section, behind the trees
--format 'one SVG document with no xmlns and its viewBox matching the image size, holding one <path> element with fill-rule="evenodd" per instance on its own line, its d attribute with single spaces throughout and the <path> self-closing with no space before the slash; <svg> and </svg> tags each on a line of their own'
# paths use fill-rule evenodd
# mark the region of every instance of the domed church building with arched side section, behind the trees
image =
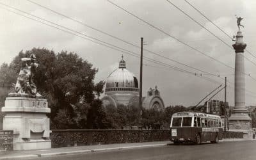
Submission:
<svg viewBox="0 0 256 160">
<path fill-rule="evenodd" d="M 126 63 L 122 56 L 119 67 L 111 72 L 106 79 L 105 96 L 102 98 L 103 105 L 112 105 L 115 107 L 117 107 L 118 104 L 124 106 L 138 106 L 138 86 L 138 79 L 132 72 L 127 70 Z M 147 97 L 143 97 L 142 101 L 143 108 L 164 109 L 164 102 L 157 88 L 154 90 L 150 88 Z"/>
</svg>

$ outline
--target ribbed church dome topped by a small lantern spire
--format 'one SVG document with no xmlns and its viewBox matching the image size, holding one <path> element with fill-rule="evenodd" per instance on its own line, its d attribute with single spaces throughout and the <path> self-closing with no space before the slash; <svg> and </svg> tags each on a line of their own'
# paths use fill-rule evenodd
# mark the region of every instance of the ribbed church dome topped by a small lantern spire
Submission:
<svg viewBox="0 0 256 160">
<path fill-rule="evenodd" d="M 138 79 L 126 68 L 125 61 L 119 63 L 119 68 L 109 74 L 106 80 L 106 94 L 115 93 L 132 93 L 133 95 L 139 92 Z"/>
</svg>

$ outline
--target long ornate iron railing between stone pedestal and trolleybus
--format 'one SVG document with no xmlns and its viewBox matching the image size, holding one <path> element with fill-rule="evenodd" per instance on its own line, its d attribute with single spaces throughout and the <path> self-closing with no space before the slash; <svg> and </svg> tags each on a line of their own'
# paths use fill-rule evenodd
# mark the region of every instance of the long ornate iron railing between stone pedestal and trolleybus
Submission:
<svg viewBox="0 0 256 160">
<path fill-rule="evenodd" d="M 170 130 L 52 130 L 52 147 L 170 140 Z"/>
</svg>

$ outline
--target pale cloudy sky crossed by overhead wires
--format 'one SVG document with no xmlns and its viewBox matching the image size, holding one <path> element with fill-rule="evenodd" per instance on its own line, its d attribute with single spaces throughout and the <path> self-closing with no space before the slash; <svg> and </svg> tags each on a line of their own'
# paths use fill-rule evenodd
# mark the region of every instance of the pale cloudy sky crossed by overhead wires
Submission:
<svg viewBox="0 0 256 160">
<path fill-rule="evenodd" d="M 131 42 L 132 44 L 140 45 L 140 37 L 143 37 L 145 40 L 145 45 L 143 47 L 145 49 L 161 54 L 166 58 L 161 58 L 147 51 L 144 51 L 144 56 L 161 61 L 161 63 L 179 67 L 189 72 L 195 72 L 196 75 L 202 73 L 167 59 L 170 58 L 200 70 L 205 70 L 216 75 L 220 74 L 220 77 L 222 78 L 227 76 L 228 82 L 230 82 L 228 83 L 227 88 L 227 100 L 231 105 L 234 105 L 234 70 L 232 68 L 228 68 L 227 66 L 190 49 L 186 45 L 177 42 L 177 40 L 174 40 L 170 36 L 148 26 L 145 22 L 125 13 L 107 0 L 31 1 L 46 6 L 47 8 L 51 8 L 68 17 L 72 17 L 88 26 L 104 31 L 109 35 Z M 177 5 L 177 7 L 188 13 L 189 16 L 193 17 L 193 19 L 200 22 L 205 28 L 209 29 L 209 31 L 220 37 L 224 42 L 230 45 L 230 47 L 205 31 L 204 28 L 186 17 L 184 13 L 177 10 L 177 8 L 172 6 L 172 4 L 168 3 L 166 0 L 111 1 L 169 35 L 175 36 L 182 42 L 204 52 L 204 54 L 234 68 L 235 52 L 230 49 L 234 42 L 232 42 L 227 35 L 221 33 L 220 30 L 214 27 L 211 22 L 205 20 L 202 15 L 193 10 L 186 1 L 170 0 L 173 4 Z M 242 31 L 244 42 L 247 44 L 246 49 L 256 57 L 256 1 L 188 1 L 230 36 L 235 35 L 237 31 L 235 15 L 244 17 L 241 24 L 245 26 Z M 64 30 L 67 30 L 67 28 L 72 29 L 73 31 L 71 31 L 71 33 L 73 33 L 73 35 L 7 11 L 6 9 L 26 15 L 17 10 L 3 6 L 3 4 L 7 4 L 8 6 L 28 12 L 31 15 L 36 15 L 37 17 L 65 26 L 65 29 L 62 28 Z M 31 15 L 26 16 L 31 17 Z M 49 22 L 45 23 L 49 24 Z M 118 67 L 118 61 L 120 61 L 122 54 L 124 54 L 124 59 L 127 61 L 127 68 L 137 77 L 140 77 L 139 58 L 95 44 L 89 40 L 75 36 L 74 33 L 77 35 L 78 33 L 83 33 L 84 35 L 92 36 L 93 38 L 140 54 L 140 49 L 138 47 L 134 47 L 108 35 L 104 35 L 99 31 L 83 26 L 73 20 L 67 19 L 67 17 L 62 17 L 61 15 L 46 10 L 29 1 L 0 0 L 0 24 L 0 64 L 4 62 L 10 63 L 12 58 L 16 56 L 19 51 L 26 51 L 33 47 L 46 47 L 55 52 L 60 52 L 62 50 L 72 51 L 77 52 L 77 54 L 84 58 L 84 60 L 88 60 L 94 67 L 99 68 L 99 72 L 95 79 L 97 82 L 106 79 L 106 77 Z M 60 28 L 60 26 L 58 26 L 58 28 Z M 255 77 L 255 80 L 253 80 L 252 77 L 245 76 L 246 105 L 255 105 L 256 58 L 251 54 L 248 54 L 248 52 L 244 52 L 244 55 L 250 61 L 255 63 L 253 64 L 248 60 L 244 60 L 246 74 Z M 224 83 L 224 80 L 220 77 L 209 76 L 204 73 L 202 74 L 202 77 L 198 77 L 150 61 L 144 61 L 144 63 L 143 95 L 147 93 L 148 88 L 157 85 L 166 106 L 177 104 L 193 106 L 207 93 L 219 86 L 219 83 Z M 211 81 L 207 81 L 205 77 L 207 80 L 211 79 Z M 221 92 L 216 95 L 216 99 L 223 100 L 224 93 Z"/>
</svg>

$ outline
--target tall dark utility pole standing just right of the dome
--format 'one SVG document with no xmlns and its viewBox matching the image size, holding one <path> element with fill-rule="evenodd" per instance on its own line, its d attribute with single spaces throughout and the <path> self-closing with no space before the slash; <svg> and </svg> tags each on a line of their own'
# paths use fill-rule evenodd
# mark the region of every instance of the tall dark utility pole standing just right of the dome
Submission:
<svg viewBox="0 0 256 160">
<path fill-rule="evenodd" d="M 143 67 L 143 37 L 141 37 L 141 47 L 140 47 L 140 98 L 139 98 L 139 107 L 140 107 L 140 121 L 141 121 L 141 109 L 142 109 L 142 67 Z"/>
</svg>

